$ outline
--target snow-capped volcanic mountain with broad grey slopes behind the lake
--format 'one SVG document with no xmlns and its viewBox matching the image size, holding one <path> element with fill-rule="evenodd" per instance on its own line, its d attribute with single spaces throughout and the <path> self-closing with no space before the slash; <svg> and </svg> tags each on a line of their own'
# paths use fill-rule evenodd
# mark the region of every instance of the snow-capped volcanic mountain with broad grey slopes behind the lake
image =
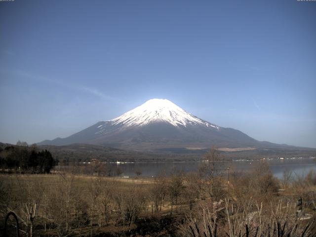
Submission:
<svg viewBox="0 0 316 237">
<path fill-rule="evenodd" d="M 45 140 L 39 145 L 73 143 L 143 151 L 203 149 L 211 145 L 225 148 L 276 145 L 259 142 L 239 130 L 197 118 L 166 99 L 151 99 L 118 118 L 99 121 L 69 137 Z"/>
</svg>

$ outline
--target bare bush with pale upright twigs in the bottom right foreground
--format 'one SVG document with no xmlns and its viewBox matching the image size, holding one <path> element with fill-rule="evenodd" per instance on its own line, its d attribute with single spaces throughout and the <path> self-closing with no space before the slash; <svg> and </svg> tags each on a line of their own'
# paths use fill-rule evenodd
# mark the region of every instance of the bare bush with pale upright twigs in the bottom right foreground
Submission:
<svg viewBox="0 0 316 237">
<path fill-rule="evenodd" d="M 313 236 L 313 221 L 304 221 L 296 213 L 295 203 L 283 204 L 281 201 L 271 204 L 270 210 L 262 203 L 249 200 L 245 205 L 230 204 L 225 200 L 225 221 L 219 222 L 218 212 L 201 207 L 196 217 L 187 218 L 187 225 L 180 227 L 187 237 L 241 237 L 241 236 L 277 236 L 304 237 Z"/>
</svg>

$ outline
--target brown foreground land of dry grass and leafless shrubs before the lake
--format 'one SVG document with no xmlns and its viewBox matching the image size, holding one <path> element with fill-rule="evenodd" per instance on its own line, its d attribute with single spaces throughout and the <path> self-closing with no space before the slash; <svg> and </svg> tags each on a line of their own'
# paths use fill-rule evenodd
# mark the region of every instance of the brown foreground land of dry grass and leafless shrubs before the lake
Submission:
<svg viewBox="0 0 316 237">
<path fill-rule="evenodd" d="M 8 211 L 16 213 L 21 236 L 193 237 L 200 231 L 235 237 L 247 232 L 246 225 L 251 233 L 260 228 L 262 237 L 279 226 L 284 233 L 297 226 L 293 237 L 308 236 L 305 229 L 316 235 L 314 171 L 277 180 L 263 162 L 253 172 L 232 172 L 228 186 L 226 177 L 214 176 L 212 164 L 200 173 L 156 178 L 0 175 L 0 221 Z"/>
</svg>

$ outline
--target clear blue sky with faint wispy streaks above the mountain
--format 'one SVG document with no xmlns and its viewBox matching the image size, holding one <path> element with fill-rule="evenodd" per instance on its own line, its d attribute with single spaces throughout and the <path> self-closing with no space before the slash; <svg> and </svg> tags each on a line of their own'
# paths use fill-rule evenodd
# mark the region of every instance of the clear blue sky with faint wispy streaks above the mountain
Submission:
<svg viewBox="0 0 316 237">
<path fill-rule="evenodd" d="M 66 137 L 151 98 L 316 148 L 316 1 L 0 1 L 0 142 Z"/>
</svg>

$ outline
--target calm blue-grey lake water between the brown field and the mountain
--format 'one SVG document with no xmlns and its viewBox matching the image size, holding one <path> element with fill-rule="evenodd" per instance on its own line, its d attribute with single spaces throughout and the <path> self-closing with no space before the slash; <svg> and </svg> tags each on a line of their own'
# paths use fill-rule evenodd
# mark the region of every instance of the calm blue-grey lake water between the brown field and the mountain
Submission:
<svg viewBox="0 0 316 237">
<path fill-rule="evenodd" d="M 291 170 L 293 175 L 306 175 L 311 169 L 316 170 L 315 158 L 284 158 L 266 160 L 271 172 L 277 177 L 282 178 L 283 172 Z M 222 161 L 221 167 L 225 169 L 230 167 L 230 172 L 234 171 L 251 171 L 260 165 L 258 160 L 238 160 L 238 161 Z M 136 172 L 141 172 L 140 176 L 152 177 L 157 176 L 161 172 L 167 175 L 174 170 L 188 172 L 196 172 L 203 162 L 185 161 L 185 162 L 136 162 L 136 163 L 108 163 L 108 166 L 115 173 L 120 170 L 124 175 L 129 177 L 137 176 Z"/>
</svg>

